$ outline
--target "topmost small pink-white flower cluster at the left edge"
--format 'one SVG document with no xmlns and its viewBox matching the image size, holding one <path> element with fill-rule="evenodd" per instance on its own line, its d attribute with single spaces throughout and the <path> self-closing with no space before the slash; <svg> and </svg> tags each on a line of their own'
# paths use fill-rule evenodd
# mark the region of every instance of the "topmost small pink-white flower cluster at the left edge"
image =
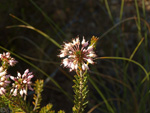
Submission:
<svg viewBox="0 0 150 113">
<path fill-rule="evenodd" d="M 6 69 L 8 66 L 14 66 L 17 63 L 17 61 L 10 56 L 9 52 L 0 54 L 0 61 L 2 62 L 2 66 Z"/>
</svg>

